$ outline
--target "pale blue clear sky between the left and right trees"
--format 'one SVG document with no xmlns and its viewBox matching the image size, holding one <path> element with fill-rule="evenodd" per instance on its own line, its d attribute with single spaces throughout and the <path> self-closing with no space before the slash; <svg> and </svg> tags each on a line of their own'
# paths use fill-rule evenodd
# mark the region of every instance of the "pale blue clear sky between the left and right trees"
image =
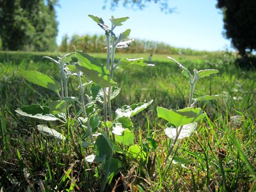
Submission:
<svg viewBox="0 0 256 192">
<path fill-rule="evenodd" d="M 109 3 L 102 9 L 104 0 L 61 0 L 56 8 L 58 26 L 57 43 L 63 35 L 104 34 L 89 14 L 102 17 L 107 25 L 113 15 L 129 17 L 116 34 L 131 29 L 131 38 L 164 42 L 174 47 L 195 50 L 220 51 L 231 49 L 230 40 L 223 37 L 223 15 L 216 8 L 216 0 L 170 0 L 175 12 L 165 14 L 159 5 L 150 3 L 144 10 L 131 10 L 121 5 L 111 11 Z M 118 30 L 117 30 L 118 29 Z"/>
</svg>

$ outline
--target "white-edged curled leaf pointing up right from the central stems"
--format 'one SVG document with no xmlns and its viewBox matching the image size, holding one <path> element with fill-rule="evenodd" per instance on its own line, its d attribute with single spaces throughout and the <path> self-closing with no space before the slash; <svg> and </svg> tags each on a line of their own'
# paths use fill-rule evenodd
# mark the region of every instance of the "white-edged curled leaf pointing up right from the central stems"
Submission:
<svg viewBox="0 0 256 192">
<path fill-rule="evenodd" d="M 150 100 L 150 102 L 147 103 L 140 102 L 138 104 L 132 104 L 131 106 L 122 106 L 122 108 L 116 109 L 116 118 L 120 118 L 122 116 L 132 117 L 146 109 L 152 102 L 153 100 Z"/>
</svg>

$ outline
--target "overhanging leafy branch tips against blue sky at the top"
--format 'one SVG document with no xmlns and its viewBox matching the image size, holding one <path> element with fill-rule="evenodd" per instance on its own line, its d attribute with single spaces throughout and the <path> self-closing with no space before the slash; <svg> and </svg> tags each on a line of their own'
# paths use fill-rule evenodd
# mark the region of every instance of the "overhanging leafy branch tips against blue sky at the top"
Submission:
<svg viewBox="0 0 256 192">
<path fill-rule="evenodd" d="M 121 3 L 126 8 L 140 10 L 143 10 L 148 3 L 156 3 L 159 4 L 159 8 L 161 9 L 161 11 L 165 13 L 173 12 L 173 8 L 170 8 L 170 6 L 168 5 L 168 0 L 105 0 L 104 8 L 106 8 L 106 4 L 108 2 L 111 10 L 115 10 L 119 3 Z"/>
</svg>

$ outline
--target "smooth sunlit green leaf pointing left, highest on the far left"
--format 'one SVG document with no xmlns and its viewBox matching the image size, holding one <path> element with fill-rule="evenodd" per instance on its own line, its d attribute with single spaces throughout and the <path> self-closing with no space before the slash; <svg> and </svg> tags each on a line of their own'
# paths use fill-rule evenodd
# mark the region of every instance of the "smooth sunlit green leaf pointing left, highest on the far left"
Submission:
<svg viewBox="0 0 256 192">
<path fill-rule="evenodd" d="M 50 76 L 47 76 L 35 70 L 26 70 L 20 73 L 31 83 L 37 84 L 56 93 L 60 92 L 60 83 L 55 81 L 55 79 Z"/>
</svg>

